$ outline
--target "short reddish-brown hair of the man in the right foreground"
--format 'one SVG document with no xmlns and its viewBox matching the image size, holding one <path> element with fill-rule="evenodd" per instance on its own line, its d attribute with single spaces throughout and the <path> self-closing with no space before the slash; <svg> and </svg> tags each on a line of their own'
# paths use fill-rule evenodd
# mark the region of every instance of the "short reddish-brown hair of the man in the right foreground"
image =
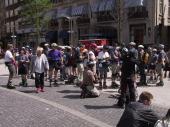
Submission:
<svg viewBox="0 0 170 127">
<path fill-rule="evenodd" d="M 139 101 L 144 102 L 144 101 L 151 101 L 153 99 L 153 95 L 150 92 L 144 91 L 140 94 L 139 96 Z"/>
</svg>

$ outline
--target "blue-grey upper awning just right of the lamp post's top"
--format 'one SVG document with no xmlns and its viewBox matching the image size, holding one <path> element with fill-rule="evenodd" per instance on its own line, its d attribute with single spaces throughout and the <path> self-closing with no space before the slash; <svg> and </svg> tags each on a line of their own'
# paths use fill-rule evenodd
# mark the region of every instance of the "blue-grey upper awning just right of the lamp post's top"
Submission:
<svg viewBox="0 0 170 127">
<path fill-rule="evenodd" d="M 88 5 L 80 5 L 72 8 L 72 16 L 88 14 Z"/>
</svg>

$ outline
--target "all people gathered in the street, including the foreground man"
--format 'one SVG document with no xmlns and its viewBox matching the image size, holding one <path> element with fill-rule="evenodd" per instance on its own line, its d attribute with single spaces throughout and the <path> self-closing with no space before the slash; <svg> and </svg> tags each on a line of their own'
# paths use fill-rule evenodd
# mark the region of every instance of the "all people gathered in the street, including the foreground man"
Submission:
<svg viewBox="0 0 170 127">
<path fill-rule="evenodd" d="M 148 83 L 164 86 L 163 79 L 167 74 L 170 78 L 170 73 L 167 73 L 170 71 L 170 50 L 165 52 L 164 49 L 163 44 L 146 47 L 137 46 L 135 42 L 102 47 L 94 44 L 88 49 L 81 44 L 70 47 L 45 43 L 35 52 L 30 47 L 22 47 L 18 52 L 14 52 L 13 45 L 8 44 L 4 58 L 9 70 L 7 88 L 15 88 L 12 79 L 16 73 L 21 75 L 20 86 L 28 85 L 28 77 L 34 78 L 37 93 L 44 92 L 44 80 L 49 81 L 50 86 L 58 85 L 59 80 L 66 84 L 76 83 L 82 90 L 81 98 L 99 97 L 102 89 L 118 88 L 118 107 L 124 108 L 127 105 L 127 112 L 132 109 L 149 111 L 144 105 L 150 105 L 152 94 L 144 92 L 136 102 L 136 89 L 137 86 L 147 86 Z M 112 74 L 111 84 L 108 82 L 108 72 Z M 120 80 L 120 84 L 117 80 Z M 126 123 L 126 115 L 125 110 L 118 127 L 124 127 L 122 123 Z M 158 117 L 152 116 L 155 120 L 152 122 L 155 123 Z M 149 124 L 147 127 L 150 127 Z"/>
</svg>

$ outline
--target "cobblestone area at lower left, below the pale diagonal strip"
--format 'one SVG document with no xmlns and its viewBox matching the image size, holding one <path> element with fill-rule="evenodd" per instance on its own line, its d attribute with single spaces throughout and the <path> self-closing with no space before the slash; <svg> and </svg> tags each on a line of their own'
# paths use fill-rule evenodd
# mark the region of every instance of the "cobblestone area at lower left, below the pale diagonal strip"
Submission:
<svg viewBox="0 0 170 127">
<path fill-rule="evenodd" d="M 33 99 L 0 90 L 0 127 L 97 127 Z"/>
</svg>

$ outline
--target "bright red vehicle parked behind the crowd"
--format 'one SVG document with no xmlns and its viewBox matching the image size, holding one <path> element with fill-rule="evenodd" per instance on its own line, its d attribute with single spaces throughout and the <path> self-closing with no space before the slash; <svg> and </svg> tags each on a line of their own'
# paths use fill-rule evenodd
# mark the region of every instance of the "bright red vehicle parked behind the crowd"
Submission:
<svg viewBox="0 0 170 127">
<path fill-rule="evenodd" d="M 89 47 L 97 48 L 97 46 L 104 46 L 109 44 L 107 39 L 87 39 L 79 40 L 79 42 L 85 45 L 87 49 L 89 49 Z"/>
</svg>

